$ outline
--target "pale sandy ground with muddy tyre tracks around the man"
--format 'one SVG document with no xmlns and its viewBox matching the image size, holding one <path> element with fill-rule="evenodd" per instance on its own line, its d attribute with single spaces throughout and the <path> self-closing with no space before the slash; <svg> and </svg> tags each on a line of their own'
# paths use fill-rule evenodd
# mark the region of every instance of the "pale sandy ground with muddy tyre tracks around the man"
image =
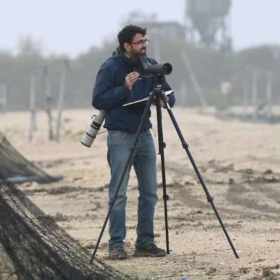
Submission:
<svg viewBox="0 0 280 280">
<path fill-rule="evenodd" d="M 29 113 L 0 116 L 10 144 L 49 174 L 64 179 L 51 185 L 18 185 L 46 214 L 92 252 L 107 214 L 109 167 L 106 133 L 92 148 L 80 144 L 94 111 L 64 111 L 59 143 L 48 141 L 45 112 L 28 141 Z M 280 127 L 221 120 L 190 109 L 174 116 L 214 205 L 240 258 L 230 247 L 167 111 L 163 114 L 170 253 L 165 258 L 133 256 L 137 226 L 137 181 L 127 191 L 128 260 L 108 260 L 107 228 L 97 258 L 132 279 L 280 279 Z M 55 115 L 54 115 L 55 116 Z M 155 111 L 153 123 L 156 127 Z M 155 137 L 158 150 L 158 139 Z M 161 182 L 158 156 L 158 182 Z M 43 191 L 42 191 L 43 190 Z M 155 241 L 165 248 L 162 187 L 155 214 Z"/>
</svg>

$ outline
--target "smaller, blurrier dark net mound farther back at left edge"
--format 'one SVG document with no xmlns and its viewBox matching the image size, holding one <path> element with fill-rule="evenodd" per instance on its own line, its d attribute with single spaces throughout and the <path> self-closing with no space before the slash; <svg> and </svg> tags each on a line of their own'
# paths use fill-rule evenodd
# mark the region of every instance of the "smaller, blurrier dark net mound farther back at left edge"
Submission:
<svg viewBox="0 0 280 280">
<path fill-rule="evenodd" d="M 42 183 L 50 183 L 57 181 L 57 178 L 43 172 L 42 169 L 36 167 L 32 162 L 23 157 L 0 132 L 0 170 L 7 178 L 13 182 L 25 177 L 28 181 L 40 181 Z"/>
</svg>

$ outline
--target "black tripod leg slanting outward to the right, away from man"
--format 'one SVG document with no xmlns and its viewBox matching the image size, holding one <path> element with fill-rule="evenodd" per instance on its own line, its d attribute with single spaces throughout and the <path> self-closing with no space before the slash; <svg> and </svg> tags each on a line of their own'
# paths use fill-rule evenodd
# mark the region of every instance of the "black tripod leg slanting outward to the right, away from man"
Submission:
<svg viewBox="0 0 280 280">
<path fill-rule="evenodd" d="M 207 190 L 207 186 L 205 185 L 205 183 L 204 183 L 204 181 L 202 179 L 202 176 L 200 175 L 200 171 L 197 169 L 197 165 L 195 164 L 195 160 L 193 160 L 193 156 L 191 155 L 191 153 L 190 153 L 190 151 L 188 149 L 188 144 L 186 143 L 185 139 L 183 138 L 183 134 L 181 133 L 181 130 L 179 129 L 179 125 L 177 124 L 177 122 L 176 122 L 176 120 L 174 118 L 174 115 L 172 113 L 172 110 L 170 109 L 169 104 L 167 103 L 165 94 L 163 94 L 162 92 L 161 92 L 161 98 L 162 98 L 163 102 L 165 103 L 165 107 L 166 107 L 166 109 L 167 109 L 167 111 L 169 113 L 169 116 L 170 116 L 170 118 L 172 120 L 172 123 L 173 123 L 173 125 L 175 127 L 175 130 L 176 130 L 177 134 L 179 135 L 179 138 L 181 140 L 182 146 L 186 150 L 186 153 L 188 154 L 188 158 L 190 159 L 190 162 L 192 163 L 193 168 L 195 169 L 195 173 L 197 174 L 197 177 L 200 180 L 202 188 L 204 189 L 204 192 L 207 195 L 207 201 L 210 202 L 212 208 L 214 209 L 214 212 L 215 212 L 215 214 L 216 214 L 216 216 L 218 218 L 218 221 L 219 221 L 221 227 L 223 228 L 223 232 L 225 233 L 225 236 L 227 237 L 228 242 L 230 243 L 232 251 L 233 251 L 233 253 L 235 253 L 235 258 L 239 258 L 239 255 L 237 254 L 237 251 L 235 251 L 235 246 L 233 246 L 232 241 L 230 240 L 230 236 L 228 235 L 228 232 L 225 229 L 225 226 L 223 225 L 223 221 L 221 220 L 221 217 L 218 214 L 218 211 L 217 211 L 217 209 L 215 207 L 215 204 L 213 202 L 214 198 L 211 197 L 209 191 Z"/>
</svg>

